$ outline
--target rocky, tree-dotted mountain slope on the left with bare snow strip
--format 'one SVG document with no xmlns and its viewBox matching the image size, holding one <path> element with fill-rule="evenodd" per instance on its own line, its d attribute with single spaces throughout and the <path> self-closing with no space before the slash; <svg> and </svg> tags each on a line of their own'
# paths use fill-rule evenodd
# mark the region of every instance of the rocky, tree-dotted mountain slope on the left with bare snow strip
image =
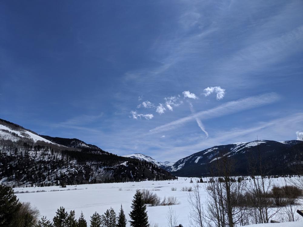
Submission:
<svg viewBox="0 0 303 227">
<path fill-rule="evenodd" d="M 42 137 L 0 119 L 0 183 L 49 186 L 146 179 L 175 177 L 153 163 L 117 156 L 78 139 Z"/>
</svg>

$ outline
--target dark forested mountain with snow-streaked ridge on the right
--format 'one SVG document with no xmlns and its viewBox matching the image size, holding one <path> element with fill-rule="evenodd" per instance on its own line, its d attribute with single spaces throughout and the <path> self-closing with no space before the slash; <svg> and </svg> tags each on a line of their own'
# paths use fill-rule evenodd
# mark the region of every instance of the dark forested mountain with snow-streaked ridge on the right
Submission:
<svg viewBox="0 0 303 227">
<path fill-rule="evenodd" d="M 291 163 L 302 160 L 303 141 L 260 140 L 214 146 L 178 160 L 171 172 L 176 176 L 205 176 L 212 162 L 221 155 L 228 155 L 235 162 L 234 174 L 247 175 L 249 158 L 255 157 L 258 151 L 270 169 L 267 174 L 291 174 Z"/>
</svg>

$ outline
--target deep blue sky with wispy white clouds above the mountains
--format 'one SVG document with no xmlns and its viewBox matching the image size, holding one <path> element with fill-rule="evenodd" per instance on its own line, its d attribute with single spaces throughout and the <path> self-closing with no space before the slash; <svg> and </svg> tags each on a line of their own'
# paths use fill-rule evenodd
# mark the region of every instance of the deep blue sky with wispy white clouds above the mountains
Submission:
<svg viewBox="0 0 303 227">
<path fill-rule="evenodd" d="M 303 130 L 302 1 L 1 1 L 0 118 L 176 161 Z"/>
</svg>

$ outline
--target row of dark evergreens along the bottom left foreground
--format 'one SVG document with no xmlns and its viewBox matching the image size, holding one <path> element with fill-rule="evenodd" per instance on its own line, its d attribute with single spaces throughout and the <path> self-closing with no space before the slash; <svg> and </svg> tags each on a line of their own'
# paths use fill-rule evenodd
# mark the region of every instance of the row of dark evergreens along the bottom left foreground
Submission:
<svg viewBox="0 0 303 227">
<path fill-rule="evenodd" d="M 52 221 L 43 216 L 38 220 L 39 211 L 30 203 L 20 203 L 9 186 L 0 185 L 0 226 L 5 227 L 87 227 L 83 213 L 75 218 L 75 210 L 69 213 L 64 207 L 57 209 Z M 137 190 L 132 200 L 130 225 L 133 227 L 148 227 L 148 215 L 144 196 Z M 90 217 L 90 227 L 126 227 L 128 223 L 124 210 L 120 208 L 118 216 L 114 209 L 110 208 L 103 215 L 95 212 Z"/>
</svg>

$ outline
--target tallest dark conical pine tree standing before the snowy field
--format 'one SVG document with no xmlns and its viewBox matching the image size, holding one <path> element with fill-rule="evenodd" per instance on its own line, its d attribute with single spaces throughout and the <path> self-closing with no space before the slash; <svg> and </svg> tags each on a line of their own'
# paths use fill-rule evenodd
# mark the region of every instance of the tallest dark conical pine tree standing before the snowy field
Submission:
<svg viewBox="0 0 303 227">
<path fill-rule="evenodd" d="M 131 226 L 133 227 L 149 227 L 148 216 L 146 212 L 146 205 L 143 200 L 142 192 L 137 190 L 134 199 L 132 201 L 132 211 L 129 216 L 132 221 Z"/>
</svg>

